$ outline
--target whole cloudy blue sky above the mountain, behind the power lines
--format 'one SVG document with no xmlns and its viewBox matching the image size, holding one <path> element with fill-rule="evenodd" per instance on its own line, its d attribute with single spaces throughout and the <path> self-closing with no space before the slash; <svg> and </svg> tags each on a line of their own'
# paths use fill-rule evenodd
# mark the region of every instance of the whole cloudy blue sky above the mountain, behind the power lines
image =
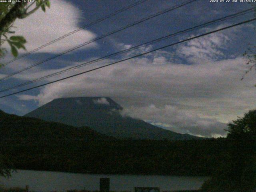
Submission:
<svg viewBox="0 0 256 192">
<path fill-rule="evenodd" d="M 136 1 L 51 0 L 51 7 L 45 13 L 38 10 L 28 18 L 16 20 L 14 23 L 16 35 L 22 35 L 27 40 L 26 51 L 20 50 L 19 54 L 42 46 L 134 2 Z M 182 2 L 185 0 L 148 0 L 0 68 L 0 78 Z M 0 81 L 0 88 L 34 80 L 251 7 L 252 4 L 248 3 L 197 0 Z M 34 84 L 1 92 L 0 96 L 253 17 L 253 13 L 247 14 L 194 30 Z M 254 70 L 241 80 L 248 67 L 243 54 L 249 44 L 254 44 L 256 40 L 254 26 L 255 22 L 250 22 L 74 78 L 1 98 L 0 109 L 24 115 L 55 98 L 110 97 L 124 108 L 124 115 L 156 126 L 196 136 L 226 136 L 224 129 L 229 122 L 256 108 Z M 8 45 L 5 46 L 9 49 Z M 11 59 L 9 51 L 2 63 Z"/>
</svg>

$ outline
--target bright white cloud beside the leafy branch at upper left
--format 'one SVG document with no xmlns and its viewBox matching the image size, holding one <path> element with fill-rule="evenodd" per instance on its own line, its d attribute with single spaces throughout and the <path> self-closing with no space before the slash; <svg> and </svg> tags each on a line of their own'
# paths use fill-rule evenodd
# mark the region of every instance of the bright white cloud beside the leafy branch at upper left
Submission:
<svg viewBox="0 0 256 192">
<path fill-rule="evenodd" d="M 79 8 L 64 0 L 54 0 L 45 13 L 37 10 L 27 18 L 16 20 L 14 26 L 17 27 L 16 35 L 26 38 L 26 49 L 30 51 L 77 29 L 78 22 L 82 19 L 84 20 Z M 95 37 L 96 35 L 88 30 L 80 30 L 38 52 L 59 53 Z M 92 43 L 85 47 L 95 46 L 96 43 Z"/>
</svg>

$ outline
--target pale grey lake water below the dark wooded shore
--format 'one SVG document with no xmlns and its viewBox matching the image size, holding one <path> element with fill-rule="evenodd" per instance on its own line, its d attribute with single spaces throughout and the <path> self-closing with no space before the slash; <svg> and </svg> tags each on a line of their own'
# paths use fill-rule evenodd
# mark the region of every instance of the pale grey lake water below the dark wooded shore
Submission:
<svg viewBox="0 0 256 192">
<path fill-rule="evenodd" d="M 134 187 L 160 187 L 160 191 L 196 190 L 207 177 L 158 175 L 101 175 L 65 172 L 17 170 L 9 179 L 0 178 L 0 186 L 29 186 L 35 192 L 66 191 L 71 189 L 99 190 L 100 178 L 110 178 L 110 190 L 132 191 Z"/>
</svg>

